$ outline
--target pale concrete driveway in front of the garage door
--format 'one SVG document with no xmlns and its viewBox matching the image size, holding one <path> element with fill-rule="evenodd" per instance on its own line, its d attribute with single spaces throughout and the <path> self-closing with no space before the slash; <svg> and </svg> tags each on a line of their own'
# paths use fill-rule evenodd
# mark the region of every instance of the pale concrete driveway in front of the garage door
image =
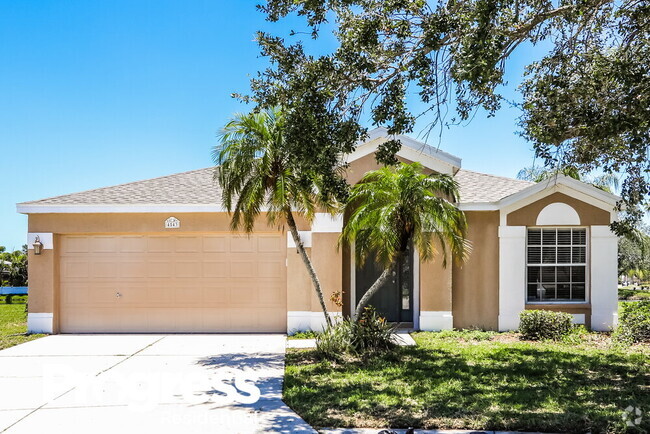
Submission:
<svg viewBox="0 0 650 434">
<path fill-rule="evenodd" d="M 0 432 L 314 432 L 282 335 L 56 335 L 0 351 Z"/>
</svg>

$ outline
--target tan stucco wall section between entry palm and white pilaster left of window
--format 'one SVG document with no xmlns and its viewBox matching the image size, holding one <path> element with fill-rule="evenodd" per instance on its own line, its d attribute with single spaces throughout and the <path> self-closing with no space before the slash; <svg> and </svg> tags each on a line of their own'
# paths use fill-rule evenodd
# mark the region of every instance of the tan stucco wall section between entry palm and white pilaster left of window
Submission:
<svg viewBox="0 0 650 434">
<path fill-rule="evenodd" d="M 472 251 L 452 272 L 455 328 L 496 330 L 499 315 L 499 212 L 467 211 Z M 524 288 L 522 288 L 522 291 Z"/>
</svg>

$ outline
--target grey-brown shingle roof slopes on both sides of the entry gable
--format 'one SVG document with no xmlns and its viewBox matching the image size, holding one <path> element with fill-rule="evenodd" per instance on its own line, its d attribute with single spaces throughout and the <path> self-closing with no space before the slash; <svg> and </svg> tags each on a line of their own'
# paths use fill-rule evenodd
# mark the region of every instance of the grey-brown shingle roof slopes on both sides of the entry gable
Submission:
<svg viewBox="0 0 650 434">
<path fill-rule="evenodd" d="M 214 168 L 193 170 L 144 181 L 24 202 L 20 205 L 221 205 L 221 191 L 213 181 Z M 461 169 L 461 203 L 496 202 L 532 182 Z"/>
</svg>

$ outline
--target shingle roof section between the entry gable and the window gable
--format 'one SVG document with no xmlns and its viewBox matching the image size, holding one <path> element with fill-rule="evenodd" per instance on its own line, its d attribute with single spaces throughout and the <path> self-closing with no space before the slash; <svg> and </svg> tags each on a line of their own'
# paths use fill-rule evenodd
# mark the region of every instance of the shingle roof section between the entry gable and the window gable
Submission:
<svg viewBox="0 0 650 434">
<path fill-rule="evenodd" d="M 535 184 L 465 169 L 460 169 L 454 178 L 460 184 L 461 203 L 496 202 Z"/>
</svg>

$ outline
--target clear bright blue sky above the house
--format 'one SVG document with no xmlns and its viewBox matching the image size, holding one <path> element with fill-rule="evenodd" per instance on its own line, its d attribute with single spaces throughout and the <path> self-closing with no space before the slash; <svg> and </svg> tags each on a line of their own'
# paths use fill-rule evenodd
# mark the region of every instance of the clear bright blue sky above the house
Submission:
<svg viewBox="0 0 650 434">
<path fill-rule="evenodd" d="M 248 110 L 231 94 L 267 65 L 255 32 L 306 30 L 266 22 L 257 2 L 0 0 L 0 245 L 26 242 L 18 202 L 210 166 L 219 128 Z M 512 58 L 507 98 L 533 50 Z M 463 168 L 515 177 L 533 163 L 519 115 L 478 112 L 432 144 Z"/>
</svg>

